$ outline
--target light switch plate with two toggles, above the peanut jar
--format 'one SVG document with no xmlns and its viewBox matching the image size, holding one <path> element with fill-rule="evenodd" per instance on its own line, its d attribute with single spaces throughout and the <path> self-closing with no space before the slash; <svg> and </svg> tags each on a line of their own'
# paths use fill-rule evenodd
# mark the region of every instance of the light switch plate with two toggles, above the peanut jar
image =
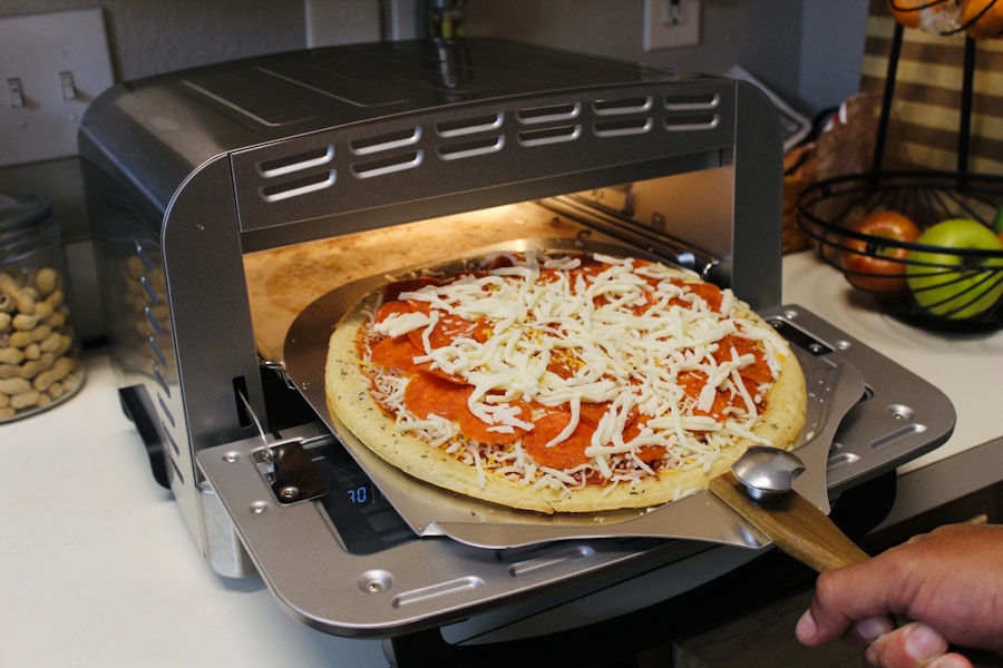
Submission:
<svg viewBox="0 0 1003 668">
<path fill-rule="evenodd" d="M 100 9 L 0 18 L 0 167 L 77 155 L 80 117 L 113 84 Z"/>
</svg>

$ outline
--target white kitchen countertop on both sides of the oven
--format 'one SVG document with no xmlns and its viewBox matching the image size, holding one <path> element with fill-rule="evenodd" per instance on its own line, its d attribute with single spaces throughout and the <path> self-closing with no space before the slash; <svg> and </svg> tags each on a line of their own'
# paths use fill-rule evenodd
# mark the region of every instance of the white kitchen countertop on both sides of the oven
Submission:
<svg viewBox="0 0 1003 668">
<path fill-rule="evenodd" d="M 808 253 L 785 258 L 800 304 L 931 380 L 958 424 L 922 466 L 1003 434 L 1003 333 L 945 336 L 877 313 Z M 0 656 L 7 666 L 386 666 L 380 644 L 293 621 L 257 578 L 203 561 L 171 494 L 149 475 L 107 356 L 85 356 L 70 401 L 0 425 Z"/>
</svg>

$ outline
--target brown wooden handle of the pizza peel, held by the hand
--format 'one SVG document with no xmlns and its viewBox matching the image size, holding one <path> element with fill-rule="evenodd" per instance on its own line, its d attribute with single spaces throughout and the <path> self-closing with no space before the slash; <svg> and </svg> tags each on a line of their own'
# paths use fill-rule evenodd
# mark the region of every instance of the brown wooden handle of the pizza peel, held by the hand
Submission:
<svg viewBox="0 0 1003 668">
<path fill-rule="evenodd" d="M 780 550 L 817 572 L 870 558 L 797 492 L 777 500 L 754 501 L 730 471 L 711 480 L 710 490 Z"/>
</svg>

